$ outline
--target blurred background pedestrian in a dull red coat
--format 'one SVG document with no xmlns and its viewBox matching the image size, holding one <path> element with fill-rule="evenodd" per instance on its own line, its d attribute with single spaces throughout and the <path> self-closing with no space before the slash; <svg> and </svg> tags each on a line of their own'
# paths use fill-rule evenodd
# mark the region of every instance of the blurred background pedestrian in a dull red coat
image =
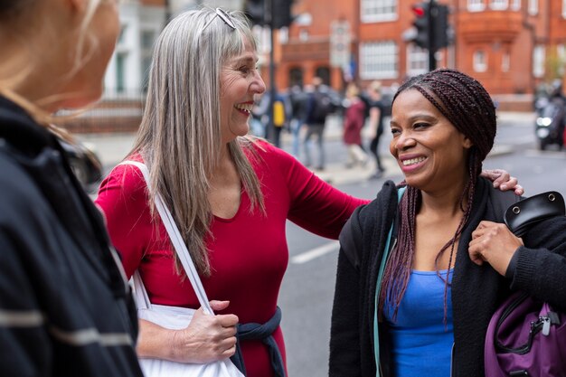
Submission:
<svg viewBox="0 0 566 377">
<path fill-rule="evenodd" d="M 369 157 L 362 148 L 362 129 L 365 124 L 365 103 L 360 89 L 354 83 L 346 88 L 344 112 L 344 144 L 348 149 L 347 167 L 365 166 Z"/>
</svg>

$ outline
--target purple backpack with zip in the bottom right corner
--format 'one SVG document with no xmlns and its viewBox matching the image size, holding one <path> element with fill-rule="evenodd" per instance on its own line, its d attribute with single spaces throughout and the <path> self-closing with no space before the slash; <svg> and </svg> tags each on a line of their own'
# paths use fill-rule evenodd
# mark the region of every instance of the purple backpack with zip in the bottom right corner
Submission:
<svg viewBox="0 0 566 377">
<path fill-rule="evenodd" d="M 566 315 L 516 292 L 487 327 L 486 377 L 566 376 Z"/>
</svg>

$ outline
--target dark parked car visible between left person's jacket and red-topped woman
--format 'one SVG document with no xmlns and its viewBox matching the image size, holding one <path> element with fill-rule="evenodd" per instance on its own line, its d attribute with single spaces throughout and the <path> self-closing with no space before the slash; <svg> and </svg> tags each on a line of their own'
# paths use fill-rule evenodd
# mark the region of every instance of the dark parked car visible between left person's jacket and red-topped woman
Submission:
<svg viewBox="0 0 566 377">
<path fill-rule="evenodd" d="M 94 148 L 86 143 L 69 143 L 60 138 L 61 146 L 67 153 L 72 172 L 87 193 L 98 189 L 102 178 L 102 164 Z"/>
</svg>

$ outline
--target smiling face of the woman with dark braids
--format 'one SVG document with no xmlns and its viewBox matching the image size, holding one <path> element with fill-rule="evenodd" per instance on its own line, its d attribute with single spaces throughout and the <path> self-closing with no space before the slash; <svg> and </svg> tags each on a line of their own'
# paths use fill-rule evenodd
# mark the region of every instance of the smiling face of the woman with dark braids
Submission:
<svg viewBox="0 0 566 377">
<path fill-rule="evenodd" d="M 391 155 L 410 186 L 432 192 L 467 179 L 472 142 L 418 90 L 401 92 L 393 102 Z"/>
</svg>

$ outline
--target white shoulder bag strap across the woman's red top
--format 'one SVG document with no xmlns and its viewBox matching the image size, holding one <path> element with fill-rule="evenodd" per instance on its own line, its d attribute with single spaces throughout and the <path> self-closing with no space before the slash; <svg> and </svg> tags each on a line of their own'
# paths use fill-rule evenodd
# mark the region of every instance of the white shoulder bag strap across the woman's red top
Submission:
<svg viewBox="0 0 566 377">
<path fill-rule="evenodd" d="M 119 165 L 137 166 L 139 171 L 144 175 L 147 188 L 151 191 L 151 186 L 149 185 L 149 169 L 147 169 L 147 166 L 145 164 L 137 161 L 127 160 L 127 161 L 123 161 Z M 171 243 L 175 248 L 177 257 L 179 257 L 179 260 L 183 265 L 184 272 L 191 281 L 191 284 L 194 289 L 194 293 L 196 294 L 199 303 L 203 307 L 204 313 L 213 315 L 214 312 L 212 311 L 212 307 L 210 306 L 208 297 L 206 297 L 206 292 L 204 291 L 203 282 L 201 281 L 201 278 L 199 278 L 199 275 L 196 272 L 196 268 L 194 267 L 193 259 L 191 259 L 189 250 L 184 244 L 183 237 L 181 237 L 181 232 L 177 228 L 177 225 L 173 220 L 173 216 L 171 215 L 171 212 L 165 206 L 165 203 L 161 199 L 161 195 L 159 193 L 156 194 L 156 209 L 157 212 L 159 212 L 161 221 L 163 221 L 163 224 L 165 225 L 165 230 L 167 231 L 167 234 L 169 234 L 169 238 L 171 239 Z M 136 274 L 137 274 L 137 278 L 136 275 L 134 275 L 134 287 L 136 289 L 136 296 L 137 296 L 136 298 L 137 298 L 138 306 L 143 305 L 143 303 L 146 303 L 147 307 L 150 307 L 151 303 L 149 302 L 149 298 L 147 297 L 146 287 L 144 287 L 143 282 L 141 278 L 139 278 L 139 274 L 137 273 L 137 271 Z M 138 286 L 140 285 L 141 287 L 138 292 Z"/>
</svg>

